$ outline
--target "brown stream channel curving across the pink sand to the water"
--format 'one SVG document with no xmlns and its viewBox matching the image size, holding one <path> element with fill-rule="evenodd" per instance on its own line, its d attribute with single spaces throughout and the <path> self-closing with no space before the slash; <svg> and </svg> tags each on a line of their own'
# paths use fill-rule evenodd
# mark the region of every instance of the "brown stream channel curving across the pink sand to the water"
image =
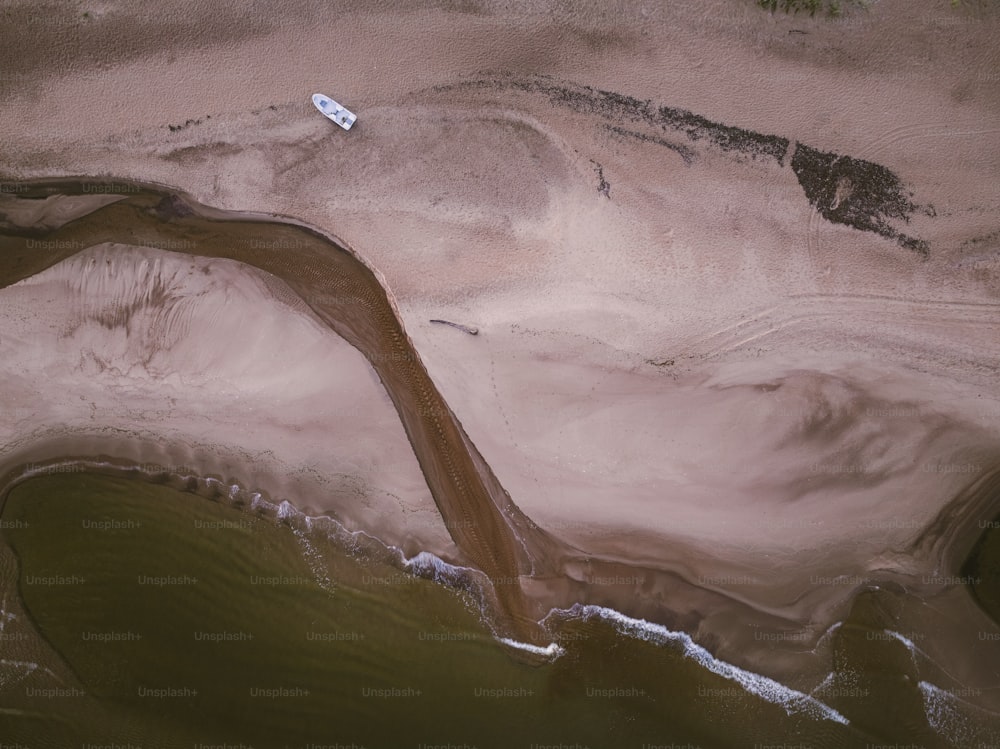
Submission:
<svg viewBox="0 0 1000 749">
<path fill-rule="evenodd" d="M 67 192 L 80 192 L 87 184 L 70 182 Z M 37 187 L 45 192 L 53 189 L 59 189 L 58 183 Z M 360 261 L 356 253 L 302 222 L 264 220 L 216 210 L 194 201 L 186 202 L 178 193 L 148 186 L 137 186 L 127 192 L 122 200 L 58 229 L 46 227 L 56 235 L 69 232 L 69 237 L 45 240 L 56 246 L 28 247 L 27 242 L 35 240 L 26 240 L 20 251 L 15 248 L 6 253 L 0 279 L 9 285 L 25 278 L 29 269 L 37 273 L 95 244 L 114 241 L 115 232 L 109 233 L 105 228 L 109 221 L 105 214 L 109 212 L 115 216 L 110 222 L 118 232 L 127 226 L 129 230 L 139 228 L 150 237 L 165 234 L 171 240 L 177 235 L 191 238 L 200 256 L 239 260 L 278 276 L 320 320 L 369 360 L 395 404 L 439 510 L 452 521 L 474 518 L 473 524 L 452 522 L 447 526 L 449 535 L 463 552 L 491 578 L 514 578 L 515 570 L 541 562 L 537 554 L 531 555 L 530 562 L 527 560 L 528 545 L 552 547 L 553 540 L 537 530 L 533 538 L 529 537 L 523 515 L 510 502 L 429 379 L 402 328 L 399 311 L 384 280 Z M 18 199 L 30 199 L 31 194 L 22 194 Z M 97 218 L 98 214 L 101 218 Z M 296 231 L 304 232 L 305 237 L 295 234 Z M 258 232 L 273 239 L 262 240 Z M 23 228 L 7 230 L 15 247 L 19 235 L 25 233 Z M 237 239 L 241 233 L 249 239 Z M 254 238 L 256 244 L 251 244 Z M 239 249 L 233 249 L 234 240 Z M 264 246 L 257 246 L 261 242 Z M 294 267 L 271 253 L 278 242 L 282 248 L 293 249 Z M 155 240 L 151 243 L 156 245 Z M 33 253 L 33 263 L 25 264 L 27 251 L 34 249 L 44 252 Z M 331 296 L 330 288 L 337 290 L 339 296 Z M 516 542 L 515 529 L 520 530 Z M 498 594 L 510 619 L 500 626 L 513 627 L 519 637 L 530 641 L 533 637 L 530 631 L 537 625 L 523 610 L 520 586 L 500 588 Z"/>
</svg>

